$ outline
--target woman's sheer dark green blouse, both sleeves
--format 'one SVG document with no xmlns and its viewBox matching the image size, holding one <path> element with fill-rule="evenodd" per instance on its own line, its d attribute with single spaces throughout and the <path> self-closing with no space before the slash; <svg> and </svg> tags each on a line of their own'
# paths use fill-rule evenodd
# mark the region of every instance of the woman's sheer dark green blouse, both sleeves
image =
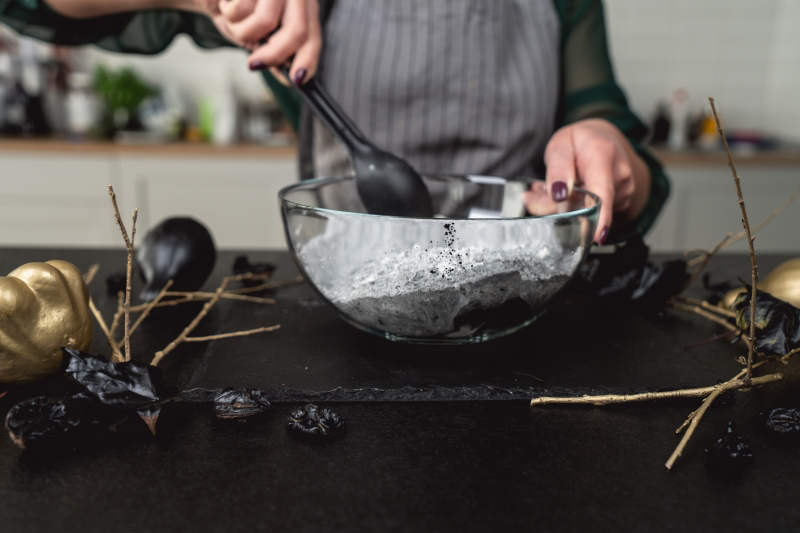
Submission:
<svg viewBox="0 0 800 533">
<path fill-rule="evenodd" d="M 669 196 L 669 181 L 658 160 L 641 145 L 647 129 L 628 107 L 614 79 L 601 0 L 553 1 L 561 19 L 562 97 L 556 125 L 586 118 L 606 119 L 625 134 L 650 167 L 652 187 L 647 207 L 636 220 L 615 226 L 609 236 L 609 242 L 622 242 L 652 227 Z M 331 3 L 321 0 L 323 18 Z M 65 46 L 94 44 L 112 52 L 158 54 L 181 33 L 189 35 L 201 48 L 232 46 L 210 19 L 183 11 L 151 10 L 77 20 L 56 13 L 42 0 L 0 0 L 0 22 L 42 41 Z M 297 126 L 297 95 L 269 72 L 262 74 L 291 123 Z"/>
</svg>

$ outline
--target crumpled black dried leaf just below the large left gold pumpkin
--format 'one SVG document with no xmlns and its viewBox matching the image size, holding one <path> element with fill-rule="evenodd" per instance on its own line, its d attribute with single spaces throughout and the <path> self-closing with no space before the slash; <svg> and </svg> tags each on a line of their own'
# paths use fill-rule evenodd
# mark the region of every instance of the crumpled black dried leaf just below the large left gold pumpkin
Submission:
<svg viewBox="0 0 800 533">
<path fill-rule="evenodd" d="M 62 351 L 67 376 L 83 389 L 80 396 L 101 409 L 139 409 L 178 393 L 164 382 L 158 367 L 136 361 L 112 363 L 70 348 Z"/>
</svg>

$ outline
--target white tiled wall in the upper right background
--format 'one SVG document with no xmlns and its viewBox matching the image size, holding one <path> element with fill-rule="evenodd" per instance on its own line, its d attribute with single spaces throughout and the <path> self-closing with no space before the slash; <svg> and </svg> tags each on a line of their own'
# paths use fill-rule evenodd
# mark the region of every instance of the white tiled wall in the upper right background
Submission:
<svg viewBox="0 0 800 533">
<path fill-rule="evenodd" d="M 605 0 L 617 77 L 649 119 L 673 90 L 731 128 L 800 141 L 800 1 Z"/>
</svg>

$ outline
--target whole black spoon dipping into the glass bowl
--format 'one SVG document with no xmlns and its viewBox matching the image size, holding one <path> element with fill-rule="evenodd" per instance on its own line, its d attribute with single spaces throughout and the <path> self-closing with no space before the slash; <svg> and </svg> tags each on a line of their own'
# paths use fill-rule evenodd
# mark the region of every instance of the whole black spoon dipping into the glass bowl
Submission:
<svg viewBox="0 0 800 533">
<path fill-rule="evenodd" d="M 281 72 L 287 79 L 289 70 Z M 316 78 L 294 85 L 316 117 L 345 145 L 356 172 L 356 187 L 367 212 L 374 215 L 433 217 L 433 204 L 422 177 L 403 159 L 370 143 Z"/>
</svg>

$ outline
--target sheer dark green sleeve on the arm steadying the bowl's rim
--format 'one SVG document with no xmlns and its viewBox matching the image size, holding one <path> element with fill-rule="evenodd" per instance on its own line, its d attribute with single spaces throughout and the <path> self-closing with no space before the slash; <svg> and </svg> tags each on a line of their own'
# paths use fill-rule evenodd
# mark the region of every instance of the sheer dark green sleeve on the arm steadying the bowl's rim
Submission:
<svg viewBox="0 0 800 533">
<path fill-rule="evenodd" d="M 651 191 L 642 214 L 611 229 L 609 243 L 644 235 L 669 196 L 669 180 L 661 163 L 642 146 L 647 128 L 633 114 L 617 85 L 608 55 L 601 0 L 555 0 L 561 18 L 562 98 L 558 126 L 587 118 L 602 118 L 628 138 L 650 169 Z"/>
</svg>

